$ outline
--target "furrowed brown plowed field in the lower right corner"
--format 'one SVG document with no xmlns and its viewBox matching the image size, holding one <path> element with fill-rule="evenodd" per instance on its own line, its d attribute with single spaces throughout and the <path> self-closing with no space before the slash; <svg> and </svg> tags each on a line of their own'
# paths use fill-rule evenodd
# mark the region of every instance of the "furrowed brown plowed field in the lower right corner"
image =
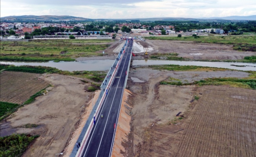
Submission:
<svg viewBox="0 0 256 157">
<path fill-rule="evenodd" d="M 256 91 L 205 89 L 180 139 L 176 157 L 255 157 Z"/>
</svg>

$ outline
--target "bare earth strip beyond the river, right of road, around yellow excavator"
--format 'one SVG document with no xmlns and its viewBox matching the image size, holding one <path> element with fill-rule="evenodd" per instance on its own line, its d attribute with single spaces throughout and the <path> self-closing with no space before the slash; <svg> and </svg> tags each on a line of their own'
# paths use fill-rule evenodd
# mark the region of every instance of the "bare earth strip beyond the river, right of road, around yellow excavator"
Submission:
<svg viewBox="0 0 256 157">
<path fill-rule="evenodd" d="M 135 47 L 134 50 L 142 54 L 146 51 L 148 51 L 149 55 L 153 53 L 178 53 L 179 55 L 177 57 L 194 60 L 238 60 L 243 59 L 245 56 L 255 55 L 255 52 L 235 51 L 231 45 L 224 44 L 204 44 L 170 40 L 135 40 L 135 42 L 139 43 L 144 48 L 144 51 L 141 51 L 141 47 Z"/>
</svg>

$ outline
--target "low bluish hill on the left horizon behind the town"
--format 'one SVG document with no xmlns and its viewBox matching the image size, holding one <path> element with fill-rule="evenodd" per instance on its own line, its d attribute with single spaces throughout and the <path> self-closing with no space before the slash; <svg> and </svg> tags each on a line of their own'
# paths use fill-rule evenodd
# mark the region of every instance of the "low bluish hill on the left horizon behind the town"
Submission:
<svg viewBox="0 0 256 157">
<path fill-rule="evenodd" d="M 2 21 L 17 21 L 17 22 L 28 22 L 28 21 L 86 21 L 91 20 L 89 18 L 82 18 L 82 17 L 75 17 L 75 16 L 55 16 L 55 15 L 42 15 L 42 16 L 36 16 L 36 15 L 22 15 L 22 16 L 5 16 L 1 17 Z"/>
</svg>

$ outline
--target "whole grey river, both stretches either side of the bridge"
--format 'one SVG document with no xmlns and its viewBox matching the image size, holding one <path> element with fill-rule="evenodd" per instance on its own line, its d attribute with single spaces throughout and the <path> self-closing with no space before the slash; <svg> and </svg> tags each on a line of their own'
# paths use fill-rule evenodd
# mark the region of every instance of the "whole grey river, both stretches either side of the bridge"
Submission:
<svg viewBox="0 0 256 157">
<path fill-rule="evenodd" d="M 115 60 L 103 59 L 103 60 L 83 60 L 76 62 L 5 62 L 1 61 L 1 64 L 13 64 L 15 66 L 31 65 L 31 66 L 49 66 L 60 70 L 66 71 L 104 71 L 111 68 Z M 256 71 L 256 64 L 254 63 L 238 63 L 238 62 L 199 62 L 199 61 L 174 61 L 174 60 L 133 60 L 132 65 L 165 65 L 165 64 L 177 64 L 181 66 L 208 66 L 216 68 L 228 68 L 244 71 Z M 236 67 L 230 66 L 231 64 L 246 66 Z"/>
</svg>

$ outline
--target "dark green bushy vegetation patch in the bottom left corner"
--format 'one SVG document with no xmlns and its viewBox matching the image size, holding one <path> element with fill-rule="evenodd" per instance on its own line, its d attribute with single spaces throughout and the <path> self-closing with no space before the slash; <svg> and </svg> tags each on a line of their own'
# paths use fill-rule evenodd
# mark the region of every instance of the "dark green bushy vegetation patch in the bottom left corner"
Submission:
<svg viewBox="0 0 256 157">
<path fill-rule="evenodd" d="M 0 137 L 0 156 L 21 157 L 28 148 L 29 144 L 37 137 L 39 136 L 31 136 L 29 134 L 12 134 L 9 136 Z"/>
</svg>

